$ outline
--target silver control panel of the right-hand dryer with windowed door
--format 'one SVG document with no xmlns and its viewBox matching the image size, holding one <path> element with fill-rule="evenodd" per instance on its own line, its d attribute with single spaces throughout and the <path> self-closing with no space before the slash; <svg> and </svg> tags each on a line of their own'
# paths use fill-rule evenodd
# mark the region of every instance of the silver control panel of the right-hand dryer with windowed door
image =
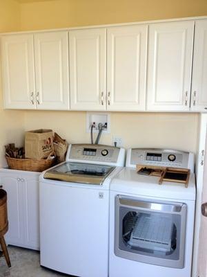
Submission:
<svg viewBox="0 0 207 277">
<path fill-rule="evenodd" d="M 134 168 L 137 164 L 193 170 L 194 159 L 193 153 L 190 152 L 157 148 L 132 148 L 128 150 L 126 166 Z"/>
</svg>

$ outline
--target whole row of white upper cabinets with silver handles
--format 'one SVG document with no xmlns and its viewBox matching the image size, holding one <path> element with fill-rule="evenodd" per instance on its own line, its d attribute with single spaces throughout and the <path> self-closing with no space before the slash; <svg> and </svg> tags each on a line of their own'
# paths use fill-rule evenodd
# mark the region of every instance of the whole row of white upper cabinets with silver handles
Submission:
<svg viewBox="0 0 207 277">
<path fill-rule="evenodd" d="M 7 109 L 207 111 L 207 19 L 1 35 L 1 69 Z"/>
</svg>

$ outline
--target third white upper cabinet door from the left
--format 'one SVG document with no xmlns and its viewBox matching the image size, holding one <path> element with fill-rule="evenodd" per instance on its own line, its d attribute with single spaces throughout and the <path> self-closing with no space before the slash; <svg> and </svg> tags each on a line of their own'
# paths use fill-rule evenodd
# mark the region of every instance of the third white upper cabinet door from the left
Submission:
<svg viewBox="0 0 207 277">
<path fill-rule="evenodd" d="M 106 29 L 71 30 L 70 108 L 106 109 Z"/>
</svg>

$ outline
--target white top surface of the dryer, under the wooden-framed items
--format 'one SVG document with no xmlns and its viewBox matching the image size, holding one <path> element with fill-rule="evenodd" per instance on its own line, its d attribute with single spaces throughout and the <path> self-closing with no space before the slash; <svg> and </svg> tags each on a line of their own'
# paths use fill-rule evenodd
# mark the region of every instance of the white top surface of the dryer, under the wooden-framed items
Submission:
<svg viewBox="0 0 207 277">
<path fill-rule="evenodd" d="M 123 168 L 110 183 L 110 190 L 132 195 L 180 200 L 195 200 L 195 175 L 190 174 L 188 188 L 184 184 L 167 182 L 159 185 L 160 177 L 137 174 L 133 168 Z"/>
</svg>

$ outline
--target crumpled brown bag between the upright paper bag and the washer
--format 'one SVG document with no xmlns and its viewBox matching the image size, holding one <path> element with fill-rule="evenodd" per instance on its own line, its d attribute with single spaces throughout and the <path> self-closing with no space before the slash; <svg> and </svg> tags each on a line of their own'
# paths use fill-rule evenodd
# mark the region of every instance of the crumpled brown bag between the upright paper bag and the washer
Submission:
<svg viewBox="0 0 207 277">
<path fill-rule="evenodd" d="M 57 163 L 65 161 L 66 152 L 68 150 L 68 143 L 65 139 L 62 139 L 57 133 L 54 136 L 54 150 L 55 156 L 57 157 Z"/>
</svg>

